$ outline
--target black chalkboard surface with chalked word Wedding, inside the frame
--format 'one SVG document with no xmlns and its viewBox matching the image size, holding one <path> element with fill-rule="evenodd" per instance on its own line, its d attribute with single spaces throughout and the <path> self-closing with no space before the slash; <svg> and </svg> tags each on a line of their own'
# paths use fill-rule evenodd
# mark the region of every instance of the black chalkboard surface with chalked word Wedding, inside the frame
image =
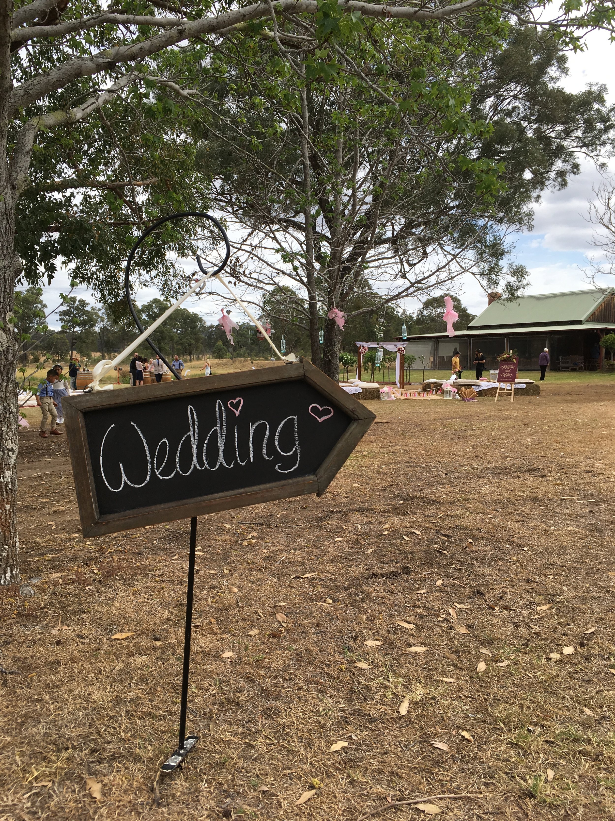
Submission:
<svg viewBox="0 0 615 821">
<path fill-rule="evenodd" d="M 348 428 L 305 382 L 158 399 L 85 415 L 102 514 L 316 473 Z"/>
</svg>

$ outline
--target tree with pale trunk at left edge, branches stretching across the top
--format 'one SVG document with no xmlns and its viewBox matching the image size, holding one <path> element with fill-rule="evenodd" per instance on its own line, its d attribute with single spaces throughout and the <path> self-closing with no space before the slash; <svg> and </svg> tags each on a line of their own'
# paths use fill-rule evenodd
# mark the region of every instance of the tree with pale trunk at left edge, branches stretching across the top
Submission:
<svg viewBox="0 0 615 821">
<path fill-rule="evenodd" d="M 171 155 L 163 150 L 167 123 L 165 113 L 157 109 L 158 103 L 172 99 L 171 95 L 176 100 L 189 100 L 190 89 L 182 88 L 174 79 L 182 73 L 178 65 L 186 53 L 199 53 L 206 61 L 212 49 L 228 36 L 240 33 L 250 41 L 276 37 L 278 14 L 296 21 L 302 31 L 298 37 L 313 39 L 335 34 L 338 42 L 342 42 L 346 30 L 352 30 L 361 16 L 428 24 L 432 20 L 454 23 L 472 8 L 484 9 L 487 21 L 494 14 L 503 13 L 494 11 L 484 0 L 432 0 L 417 5 L 277 0 L 275 9 L 271 2 L 237 0 L 220 5 L 198 0 L 185 4 L 175 0 L 168 4 L 162 0 L 130 0 L 127 5 L 116 6 L 113 0 L 105 7 L 96 0 L 84 0 L 75 6 L 64 0 L 26 0 L 15 7 L 14 0 L 0 0 L 2 584 L 19 580 L 15 410 L 19 339 L 11 325 L 15 284 L 24 273 L 30 284 L 37 284 L 41 273 L 53 273 L 57 255 L 66 255 L 73 262 L 73 273 L 85 282 L 93 277 L 92 272 L 98 273 L 105 281 L 91 284 L 100 296 L 115 299 L 118 260 L 114 250 L 128 245 L 129 229 L 136 235 L 154 213 L 168 213 L 198 199 L 189 195 L 192 186 L 182 186 L 180 180 L 182 146 L 176 146 L 180 159 L 176 160 L 175 168 Z M 532 9 L 543 5 L 539 0 L 516 2 L 512 13 L 529 19 Z M 573 41 L 580 26 L 604 27 L 611 25 L 612 18 L 610 4 L 592 0 L 585 5 L 565 4 L 557 20 L 544 25 L 555 25 L 558 36 Z M 265 21 L 271 22 L 263 25 Z M 130 131 L 133 121 L 137 125 Z M 140 143 L 140 149 L 133 147 L 130 154 L 126 153 L 118 137 L 122 130 L 130 131 L 130 145 Z M 159 159 L 157 144 L 161 146 Z M 49 153 L 57 146 L 62 151 L 54 163 Z M 135 176 L 133 167 L 139 166 L 135 158 L 139 150 L 151 151 L 153 167 L 149 167 L 148 161 L 139 167 L 139 176 Z M 46 179 L 37 179 L 39 161 L 47 167 Z M 186 176 L 190 177 L 189 169 Z M 57 231 L 59 223 L 49 216 L 45 218 L 45 209 L 53 212 L 57 207 L 50 206 L 47 198 L 40 204 L 34 188 L 30 204 L 21 209 L 21 197 L 25 197 L 24 201 L 29 197 L 30 183 L 51 186 L 45 193 L 57 195 L 51 199 L 60 204 L 57 210 L 66 231 L 62 226 Z M 180 189 L 176 196 L 175 186 Z M 38 227 L 32 232 L 39 238 L 34 242 L 29 236 L 30 221 Z M 182 236 L 171 229 L 169 232 L 177 250 L 185 248 Z M 93 250 L 95 254 L 88 260 Z M 153 251 L 151 257 L 149 261 L 147 255 L 145 258 L 150 272 L 157 266 L 165 268 L 166 258 L 161 252 Z M 99 260 L 102 261 L 98 267 L 89 264 Z"/>
</svg>

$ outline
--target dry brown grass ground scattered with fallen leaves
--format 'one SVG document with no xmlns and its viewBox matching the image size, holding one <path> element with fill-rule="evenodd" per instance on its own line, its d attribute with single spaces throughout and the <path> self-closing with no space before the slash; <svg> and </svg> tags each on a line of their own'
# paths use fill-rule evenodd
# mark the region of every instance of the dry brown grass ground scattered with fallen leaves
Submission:
<svg viewBox="0 0 615 821">
<path fill-rule="evenodd" d="M 66 438 L 23 431 L 0 819 L 613 818 L 613 400 L 371 402 L 321 499 L 201 517 L 164 781 L 189 523 L 84 540 Z"/>
</svg>

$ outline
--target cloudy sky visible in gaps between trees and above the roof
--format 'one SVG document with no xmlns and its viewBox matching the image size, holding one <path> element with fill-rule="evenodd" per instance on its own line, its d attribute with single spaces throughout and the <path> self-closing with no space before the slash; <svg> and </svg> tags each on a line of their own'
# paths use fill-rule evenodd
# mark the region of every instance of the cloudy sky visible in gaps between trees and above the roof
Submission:
<svg viewBox="0 0 615 821">
<path fill-rule="evenodd" d="M 615 103 L 613 87 L 613 58 L 615 44 L 609 44 L 605 34 L 591 34 L 587 39 L 584 53 L 570 54 L 569 74 L 563 80 L 569 91 L 581 91 L 588 83 L 607 83 L 608 102 Z M 608 68 L 608 71 L 607 71 Z M 610 80 L 610 83 L 609 83 Z M 562 191 L 547 191 L 540 204 L 535 207 L 534 227 L 531 233 L 517 236 L 513 259 L 526 265 L 531 272 L 530 286 L 526 293 L 542 294 L 553 291 L 574 291 L 590 287 L 586 281 L 587 255 L 594 255 L 592 246 L 592 226 L 588 222 L 589 200 L 594 199 L 593 190 L 603 180 L 592 163 L 584 161 L 583 170 L 572 177 L 567 188 Z M 615 162 L 610 163 L 615 176 Z M 604 276 L 601 284 L 615 285 L 615 277 Z M 45 301 L 49 309 L 59 303 L 59 293 L 68 290 L 67 277 L 58 275 L 51 287 L 45 287 Z M 87 289 L 78 288 L 73 295 L 84 296 L 93 301 Z M 143 303 L 158 296 L 154 289 L 141 291 L 136 297 Z M 462 302 L 474 314 L 486 307 L 486 297 L 476 282 L 467 277 L 460 291 Z M 188 306 L 203 314 L 207 322 L 215 321 L 219 309 L 211 299 Z M 412 305 L 408 305 L 412 309 Z M 50 317 L 49 323 L 57 326 L 57 319 Z"/>
</svg>

